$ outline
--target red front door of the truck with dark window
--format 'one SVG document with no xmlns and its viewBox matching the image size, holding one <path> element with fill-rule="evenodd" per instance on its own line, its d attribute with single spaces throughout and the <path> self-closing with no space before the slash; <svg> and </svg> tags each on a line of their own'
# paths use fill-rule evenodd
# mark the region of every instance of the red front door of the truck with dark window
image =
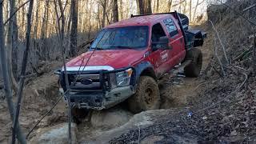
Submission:
<svg viewBox="0 0 256 144">
<path fill-rule="evenodd" d="M 166 37 L 165 30 L 163 30 L 161 23 L 157 23 L 152 26 L 151 30 L 151 42 L 158 42 L 160 38 Z M 150 54 L 150 62 L 154 65 L 157 76 L 161 76 L 166 73 L 169 66 L 167 61 L 170 58 L 170 50 L 158 49 L 157 46 L 151 45 L 152 53 Z"/>
</svg>

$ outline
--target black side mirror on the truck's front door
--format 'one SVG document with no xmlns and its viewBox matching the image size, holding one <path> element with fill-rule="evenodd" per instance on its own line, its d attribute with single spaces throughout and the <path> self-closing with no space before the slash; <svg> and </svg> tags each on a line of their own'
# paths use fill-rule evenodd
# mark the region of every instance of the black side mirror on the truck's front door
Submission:
<svg viewBox="0 0 256 144">
<path fill-rule="evenodd" d="M 158 42 L 152 42 L 152 50 L 170 50 L 169 38 L 164 36 L 160 37 Z"/>
</svg>

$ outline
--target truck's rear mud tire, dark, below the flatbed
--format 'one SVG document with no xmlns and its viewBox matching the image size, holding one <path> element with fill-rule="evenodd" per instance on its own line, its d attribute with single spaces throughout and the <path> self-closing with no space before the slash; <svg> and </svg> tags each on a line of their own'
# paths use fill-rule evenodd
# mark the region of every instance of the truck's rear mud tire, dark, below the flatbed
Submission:
<svg viewBox="0 0 256 144">
<path fill-rule="evenodd" d="M 184 68 L 186 77 L 198 77 L 202 69 L 202 51 L 197 48 L 189 50 L 186 54 L 186 60 L 192 60 L 192 62 Z"/>
</svg>

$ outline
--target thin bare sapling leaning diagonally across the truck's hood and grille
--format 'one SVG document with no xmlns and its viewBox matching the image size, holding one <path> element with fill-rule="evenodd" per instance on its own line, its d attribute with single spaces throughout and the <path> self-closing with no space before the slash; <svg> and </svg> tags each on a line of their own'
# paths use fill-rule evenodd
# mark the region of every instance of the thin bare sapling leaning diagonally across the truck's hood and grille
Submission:
<svg viewBox="0 0 256 144">
<path fill-rule="evenodd" d="M 104 37 L 104 35 L 105 35 L 105 34 L 102 35 L 102 38 Z M 101 38 L 98 42 L 100 42 L 100 41 L 102 40 L 102 38 Z M 85 69 L 85 67 L 87 66 L 87 64 L 88 64 L 88 62 L 89 62 L 89 60 L 90 60 L 90 58 L 92 57 L 92 55 L 94 54 L 95 50 L 97 50 L 97 49 L 98 49 L 98 44 L 97 44 L 97 46 L 95 46 L 94 50 L 93 50 L 92 53 L 90 54 L 90 57 L 87 59 L 86 65 L 83 67 L 82 71 Z M 85 60 L 85 57 L 82 58 L 82 63 L 84 62 L 84 60 Z M 73 82 L 70 86 L 74 86 L 75 82 L 78 81 L 79 76 L 82 74 L 82 71 L 81 71 L 81 73 L 79 73 L 79 71 L 81 70 L 81 67 L 82 67 L 82 63 L 80 64 L 79 69 L 78 69 L 78 73 L 77 73 L 78 76 L 75 78 L 74 82 Z M 53 110 L 55 106 L 57 106 L 58 102 L 61 101 L 61 99 L 64 97 L 64 95 L 65 95 L 68 91 L 69 91 L 69 90 L 66 90 L 66 91 L 64 92 L 64 94 L 62 94 L 62 95 L 58 98 L 57 102 L 54 103 L 54 106 L 52 106 L 52 107 L 50 108 L 50 110 L 48 110 L 48 111 L 46 112 L 46 114 L 44 114 L 41 118 L 39 118 L 38 122 L 36 122 L 36 124 L 35 124 L 35 125 L 33 126 L 33 128 L 29 131 L 29 133 L 26 134 L 26 139 L 29 138 L 29 136 L 30 136 L 30 134 L 32 133 L 32 131 L 34 130 L 34 128 L 35 128 L 36 126 L 38 126 L 38 124 L 42 121 L 42 119 L 45 118 L 46 115 L 49 114 L 50 111 Z"/>
</svg>

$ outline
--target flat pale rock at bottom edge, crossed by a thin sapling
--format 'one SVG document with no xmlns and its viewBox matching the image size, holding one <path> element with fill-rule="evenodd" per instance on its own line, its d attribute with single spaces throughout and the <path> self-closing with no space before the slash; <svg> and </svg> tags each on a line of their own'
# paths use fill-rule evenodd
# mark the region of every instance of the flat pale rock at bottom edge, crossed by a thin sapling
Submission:
<svg viewBox="0 0 256 144">
<path fill-rule="evenodd" d="M 37 144 L 54 144 L 54 143 L 68 143 L 68 123 L 61 123 L 56 126 L 51 126 L 43 129 L 38 129 L 38 134 L 30 140 L 29 143 Z M 77 142 L 77 125 L 72 123 L 72 143 Z"/>
</svg>

